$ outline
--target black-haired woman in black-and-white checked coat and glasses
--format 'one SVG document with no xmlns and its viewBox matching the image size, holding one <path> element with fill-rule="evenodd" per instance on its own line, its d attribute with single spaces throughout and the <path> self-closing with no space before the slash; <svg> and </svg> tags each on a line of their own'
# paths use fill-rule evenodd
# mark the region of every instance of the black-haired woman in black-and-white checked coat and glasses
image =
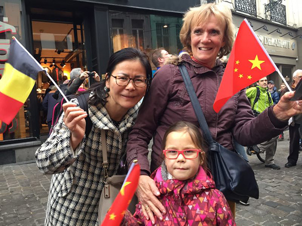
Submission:
<svg viewBox="0 0 302 226">
<path fill-rule="evenodd" d="M 62 105 L 53 132 L 35 154 L 39 170 L 53 174 L 45 225 L 100 225 L 104 175 L 117 174 L 139 100 L 147 95 L 151 81 L 147 55 L 125 48 L 110 57 L 105 80 Z M 103 165 L 102 144 L 108 166 Z"/>
</svg>

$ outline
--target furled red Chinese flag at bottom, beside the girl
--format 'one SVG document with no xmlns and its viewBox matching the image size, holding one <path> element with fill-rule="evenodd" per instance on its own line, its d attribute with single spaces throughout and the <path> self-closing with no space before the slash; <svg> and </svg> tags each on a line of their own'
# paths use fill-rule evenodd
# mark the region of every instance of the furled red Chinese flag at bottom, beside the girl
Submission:
<svg viewBox="0 0 302 226">
<path fill-rule="evenodd" d="M 135 162 L 134 162 L 135 161 Z M 122 188 L 109 208 L 101 226 L 119 226 L 138 185 L 140 167 L 137 160 L 130 166 Z"/>
</svg>

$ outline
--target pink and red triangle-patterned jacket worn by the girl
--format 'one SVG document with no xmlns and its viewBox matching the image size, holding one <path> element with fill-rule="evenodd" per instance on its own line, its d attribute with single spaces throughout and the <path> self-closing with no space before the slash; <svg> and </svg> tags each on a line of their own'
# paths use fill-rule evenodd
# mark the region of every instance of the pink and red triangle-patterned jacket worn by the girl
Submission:
<svg viewBox="0 0 302 226">
<path fill-rule="evenodd" d="M 152 174 L 161 192 L 159 200 L 167 210 L 163 221 L 155 216 L 156 225 L 236 225 L 225 197 L 215 189 L 211 175 L 206 174 L 201 167 L 196 178 L 189 181 L 163 179 L 165 172 L 166 167 L 163 166 Z M 134 216 L 129 211 L 126 212 L 121 225 L 151 226 L 152 222 L 145 219 L 139 203 Z"/>
</svg>

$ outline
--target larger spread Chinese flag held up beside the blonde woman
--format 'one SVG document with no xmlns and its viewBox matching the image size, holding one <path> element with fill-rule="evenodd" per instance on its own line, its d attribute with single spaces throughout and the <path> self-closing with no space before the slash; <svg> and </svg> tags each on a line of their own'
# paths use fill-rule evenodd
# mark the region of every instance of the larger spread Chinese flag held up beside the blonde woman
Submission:
<svg viewBox="0 0 302 226">
<path fill-rule="evenodd" d="M 234 94 L 276 70 L 276 65 L 244 19 L 214 101 L 214 110 L 218 112 Z"/>
</svg>

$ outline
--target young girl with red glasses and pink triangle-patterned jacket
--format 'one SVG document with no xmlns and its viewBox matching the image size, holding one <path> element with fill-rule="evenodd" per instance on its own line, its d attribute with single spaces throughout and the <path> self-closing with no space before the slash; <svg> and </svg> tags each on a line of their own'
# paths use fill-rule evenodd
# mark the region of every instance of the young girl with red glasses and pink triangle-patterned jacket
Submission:
<svg viewBox="0 0 302 226">
<path fill-rule="evenodd" d="M 151 222 L 142 211 L 150 208 L 139 203 L 134 216 L 126 212 L 122 225 L 236 225 L 228 202 L 206 169 L 205 150 L 196 126 L 172 125 L 163 138 L 165 160 L 151 175 L 167 213 L 162 221 L 155 216 L 156 222 Z"/>
</svg>

